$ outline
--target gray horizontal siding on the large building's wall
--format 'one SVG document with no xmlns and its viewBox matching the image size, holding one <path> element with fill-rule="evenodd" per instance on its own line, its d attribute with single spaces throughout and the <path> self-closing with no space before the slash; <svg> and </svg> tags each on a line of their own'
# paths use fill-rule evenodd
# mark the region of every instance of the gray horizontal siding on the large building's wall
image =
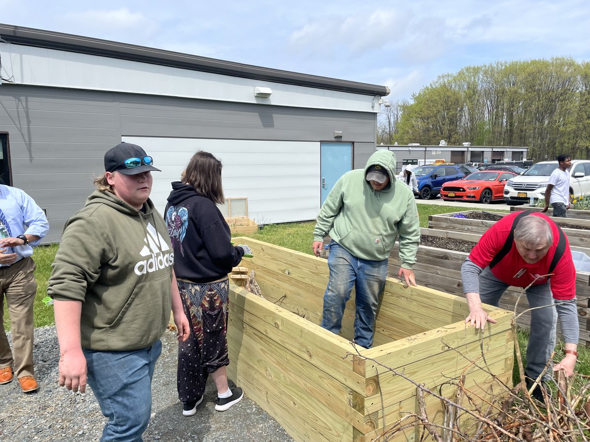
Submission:
<svg viewBox="0 0 590 442">
<path fill-rule="evenodd" d="M 2 84 L 13 184 L 45 210 L 58 242 L 93 191 L 103 154 L 122 136 L 355 143 L 355 167 L 375 150 L 375 114 Z"/>
</svg>

